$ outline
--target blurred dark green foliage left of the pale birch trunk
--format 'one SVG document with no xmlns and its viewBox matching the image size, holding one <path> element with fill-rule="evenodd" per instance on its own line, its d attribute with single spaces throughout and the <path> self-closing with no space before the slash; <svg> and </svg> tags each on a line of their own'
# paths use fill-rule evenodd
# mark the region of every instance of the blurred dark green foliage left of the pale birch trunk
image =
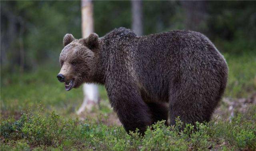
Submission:
<svg viewBox="0 0 256 151">
<path fill-rule="evenodd" d="M 1 66 L 20 66 L 21 43 L 26 69 L 57 64 L 65 33 L 81 37 L 80 14 L 79 1 L 1 1 Z"/>
</svg>

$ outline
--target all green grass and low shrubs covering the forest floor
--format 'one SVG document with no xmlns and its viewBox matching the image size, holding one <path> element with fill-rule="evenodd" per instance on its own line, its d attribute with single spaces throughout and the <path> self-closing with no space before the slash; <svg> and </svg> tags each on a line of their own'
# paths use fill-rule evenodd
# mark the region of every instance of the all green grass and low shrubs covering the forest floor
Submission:
<svg viewBox="0 0 256 151">
<path fill-rule="evenodd" d="M 249 98 L 256 90 L 256 54 L 224 54 L 229 66 L 224 97 Z M 1 151 L 10 150 L 256 150 L 256 106 L 235 112 L 232 120 L 213 118 L 197 130 L 182 122 L 166 127 L 159 122 L 144 137 L 128 135 L 113 124 L 106 90 L 100 109 L 75 114 L 82 104 L 82 89 L 64 90 L 56 79 L 57 68 L 43 66 L 30 73 L 1 75 Z M 3 73 L 3 72 L 1 72 Z M 229 117 L 228 106 L 220 103 Z M 217 113 L 218 115 L 218 113 Z M 214 116 L 215 117 L 215 116 Z"/>
</svg>

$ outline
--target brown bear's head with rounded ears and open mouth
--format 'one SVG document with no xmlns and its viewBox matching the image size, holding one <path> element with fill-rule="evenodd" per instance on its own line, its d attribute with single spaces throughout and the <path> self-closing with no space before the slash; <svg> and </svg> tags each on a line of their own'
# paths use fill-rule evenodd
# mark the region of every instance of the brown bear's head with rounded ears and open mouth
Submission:
<svg viewBox="0 0 256 151">
<path fill-rule="evenodd" d="M 60 53 L 61 69 L 57 78 L 64 82 L 67 91 L 79 87 L 84 82 L 92 82 L 96 72 L 99 43 L 100 39 L 96 33 L 91 33 L 84 39 L 75 39 L 69 33 L 64 36 L 64 48 Z"/>
</svg>

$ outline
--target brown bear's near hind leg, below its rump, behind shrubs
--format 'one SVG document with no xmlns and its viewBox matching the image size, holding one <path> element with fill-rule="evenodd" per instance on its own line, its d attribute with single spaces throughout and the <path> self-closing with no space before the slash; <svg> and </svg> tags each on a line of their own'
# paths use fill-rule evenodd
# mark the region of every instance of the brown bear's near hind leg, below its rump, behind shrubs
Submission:
<svg viewBox="0 0 256 151">
<path fill-rule="evenodd" d="M 169 97 L 170 125 L 175 125 L 178 116 L 184 124 L 195 125 L 196 122 L 210 121 L 218 103 L 214 98 L 204 90 L 172 88 Z"/>
</svg>

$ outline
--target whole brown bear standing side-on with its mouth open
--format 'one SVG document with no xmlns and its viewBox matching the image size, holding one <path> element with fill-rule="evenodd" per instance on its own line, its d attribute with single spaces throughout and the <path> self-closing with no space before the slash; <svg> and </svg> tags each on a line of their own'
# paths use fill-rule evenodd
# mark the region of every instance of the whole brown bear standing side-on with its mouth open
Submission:
<svg viewBox="0 0 256 151">
<path fill-rule="evenodd" d="M 66 90 L 104 84 L 126 131 L 159 120 L 208 122 L 224 92 L 228 67 L 203 34 L 176 30 L 137 36 L 120 27 L 98 37 L 64 36 L 57 78 Z"/>
</svg>

